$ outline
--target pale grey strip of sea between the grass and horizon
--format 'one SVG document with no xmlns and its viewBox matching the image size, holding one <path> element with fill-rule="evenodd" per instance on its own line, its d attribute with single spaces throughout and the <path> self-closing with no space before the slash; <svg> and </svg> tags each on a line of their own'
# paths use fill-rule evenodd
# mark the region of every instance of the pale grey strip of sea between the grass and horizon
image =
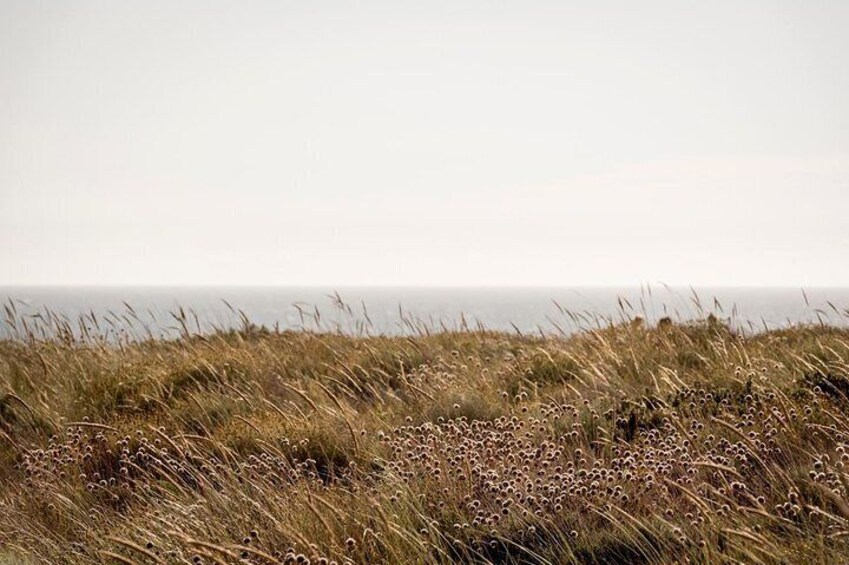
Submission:
<svg viewBox="0 0 849 565">
<path fill-rule="evenodd" d="M 849 326 L 849 288 L 0 287 L 0 299 L 0 335 L 7 337 L 24 323 L 47 331 L 48 318 L 107 337 L 202 333 L 246 320 L 372 335 L 462 328 L 556 334 L 636 316 L 651 323 L 710 313 L 751 332 Z"/>
</svg>

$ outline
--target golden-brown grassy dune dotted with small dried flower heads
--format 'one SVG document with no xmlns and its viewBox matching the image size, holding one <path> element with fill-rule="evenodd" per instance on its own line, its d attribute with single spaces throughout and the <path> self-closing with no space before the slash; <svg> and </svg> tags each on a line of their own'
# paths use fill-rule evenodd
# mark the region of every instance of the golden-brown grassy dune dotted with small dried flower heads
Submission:
<svg viewBox="0 0 849 565">
<path fill-rule="evenodd" d="M 845 563 L 849 331 L 0 341 L 0 563 Z"/>
</svg>

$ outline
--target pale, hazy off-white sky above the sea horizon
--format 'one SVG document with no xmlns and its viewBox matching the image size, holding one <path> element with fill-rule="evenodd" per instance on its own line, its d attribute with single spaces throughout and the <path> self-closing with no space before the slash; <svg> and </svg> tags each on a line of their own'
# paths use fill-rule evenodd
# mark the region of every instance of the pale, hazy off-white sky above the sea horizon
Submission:
<svg viewBox="0 0 849 565">
<path fill-rule="evenodd" d="M 847 25 L 0 0 L 0 285 L 849 286 Z"/>
</svg>

